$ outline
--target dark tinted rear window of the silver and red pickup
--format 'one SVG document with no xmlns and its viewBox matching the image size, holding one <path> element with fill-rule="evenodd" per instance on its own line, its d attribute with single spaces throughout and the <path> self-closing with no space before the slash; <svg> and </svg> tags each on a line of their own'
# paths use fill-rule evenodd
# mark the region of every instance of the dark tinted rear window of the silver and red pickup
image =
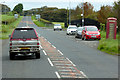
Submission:
<svg viewBox="0 0 120 80">
<path fill-rule="evenodd" d="M 31 39 L 37 38 L 33 28 L 30 29 L 15 29 L 12 39 Z"/>
</svg>

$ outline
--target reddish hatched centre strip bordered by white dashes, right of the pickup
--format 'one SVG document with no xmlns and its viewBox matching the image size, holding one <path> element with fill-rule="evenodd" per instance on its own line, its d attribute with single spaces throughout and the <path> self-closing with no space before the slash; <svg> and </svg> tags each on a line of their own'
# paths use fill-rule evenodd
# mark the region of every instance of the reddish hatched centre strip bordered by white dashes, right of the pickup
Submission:
<svg viewBox="0 0 120 80">
<path fill-rule="evenodd" d="M 55 72 L 57 78 L 87 78 L 82 71 L 75 67 L 76 65 L 69 58 L 64 57 L 63 53 L 57 50 L 47 39 L 41 37 L 40 41 L 42 43 L 41 47 L 44 49 L 43 53 L 48 56 L 49 64 L 57 69 Z"/>
</svg>

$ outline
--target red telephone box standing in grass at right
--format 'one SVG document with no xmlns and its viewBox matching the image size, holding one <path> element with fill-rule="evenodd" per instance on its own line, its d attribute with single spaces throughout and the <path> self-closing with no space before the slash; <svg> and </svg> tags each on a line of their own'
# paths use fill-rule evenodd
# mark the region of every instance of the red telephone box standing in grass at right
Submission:
<svg viewBox="0 0 120 80">
<path fill-rule="evenodd" d="M 117 19 L 116 18 L 108 18 L 107 19 L 107 27 L 106 27 L 106 38 L 116 39 L 116 27 L 117 27 Z"/>
</svg>

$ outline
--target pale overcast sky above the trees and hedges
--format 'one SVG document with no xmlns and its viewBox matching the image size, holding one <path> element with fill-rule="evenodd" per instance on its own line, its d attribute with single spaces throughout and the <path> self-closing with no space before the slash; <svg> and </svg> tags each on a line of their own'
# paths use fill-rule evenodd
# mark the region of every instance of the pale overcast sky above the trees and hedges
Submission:
<svg viewBox="0 0 120 80">
<path fill-rule="evenodd" d="M 8 5 L 11 10 L 18 3 L 22 3 L 24 10 L 29 10 L 32 8 L 40 8 L 43 6 L 48 7 L 58 7 L 58 8 L 67 8 L 69 3 L 71 8 L 76 8 L 82 2 L 90 2 L 94 6 L 94 10 L 98 11 L 102 5 L 113 6 L 114 1 L 118 0 L 0 0 L 0 3 Z"/>
</svg>

